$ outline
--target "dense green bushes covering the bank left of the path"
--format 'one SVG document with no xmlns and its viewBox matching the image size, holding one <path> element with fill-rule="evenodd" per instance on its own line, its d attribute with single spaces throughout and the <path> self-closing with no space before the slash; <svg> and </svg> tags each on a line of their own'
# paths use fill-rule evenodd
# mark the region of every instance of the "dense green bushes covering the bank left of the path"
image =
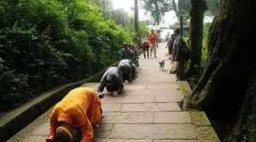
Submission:
<svg viewBox="0 0 256 142">
<path fill-rule="evenodd" d="M 0 1 L 0 111 L 90 76 L 131 40 L 84 0 Z"/>
</svg>

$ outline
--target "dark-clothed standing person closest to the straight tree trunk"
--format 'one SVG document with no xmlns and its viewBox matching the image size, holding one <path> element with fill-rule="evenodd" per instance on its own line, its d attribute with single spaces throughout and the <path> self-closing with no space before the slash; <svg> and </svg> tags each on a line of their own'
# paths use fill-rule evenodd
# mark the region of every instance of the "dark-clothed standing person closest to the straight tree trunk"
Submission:
<svg viewBox="0 0 256 142">
<path fill-rule="evenodd" d="M 185 64 L 190 58 L 190 50 L 187 43 L 180 39 L 177 43 L 177 55 L 175 60 L 177 60 L 177 81 L 183 81 L 185 74 Z"/>
</svg>

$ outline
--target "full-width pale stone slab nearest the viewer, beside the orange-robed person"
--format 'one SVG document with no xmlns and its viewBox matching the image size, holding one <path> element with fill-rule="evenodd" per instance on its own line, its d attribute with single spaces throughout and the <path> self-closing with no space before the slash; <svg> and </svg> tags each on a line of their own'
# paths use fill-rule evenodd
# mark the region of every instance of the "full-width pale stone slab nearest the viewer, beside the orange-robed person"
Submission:
<svg viewBox="0 0 256 142">
<path fill-rule="evenodd" d="M 109 139 L 196 139 L 193 124 L 115 124 Z"/>
</svg>

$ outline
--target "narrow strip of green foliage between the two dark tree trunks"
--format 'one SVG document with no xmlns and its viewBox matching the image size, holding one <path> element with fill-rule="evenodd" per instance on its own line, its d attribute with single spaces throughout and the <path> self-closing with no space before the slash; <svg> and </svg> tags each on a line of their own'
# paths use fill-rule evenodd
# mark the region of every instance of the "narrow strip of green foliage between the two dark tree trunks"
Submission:
<svg viewBox="0 0 256 142">
<path fill-rule="evenodd" d="M 202 51 L 201 51 L 201 64 L 203 66 L 207 65 L 207 61 L 209 59 L 208 36 L 209 36 L 210 26 L 211 26 L 210 23 L 206 23 L 206 24 L 204 24 L 204 27 L 203 27 L 203 47 L 202 47 Z"/>
</svg>

